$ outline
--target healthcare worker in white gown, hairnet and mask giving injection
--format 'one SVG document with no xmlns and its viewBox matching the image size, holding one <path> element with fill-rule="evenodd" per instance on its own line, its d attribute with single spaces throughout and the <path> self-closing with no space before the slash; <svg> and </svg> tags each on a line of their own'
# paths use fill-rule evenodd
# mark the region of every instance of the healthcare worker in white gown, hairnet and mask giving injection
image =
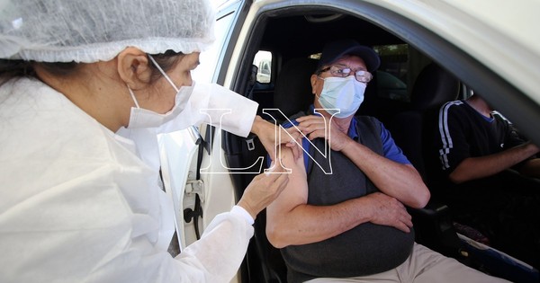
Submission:
<svg viewBox="0 0 540 283">
<path fill-rule="evenodd" d="M 192 82 L 213 22 L 202 0 L 0 0 L 0 282 L 233 278 L 287 174 L 258 175 L 173 258 L 155 157 L 157 133 L 220 120 L 203 108 L 274 145 L 256 103 Z"/>
</svg>

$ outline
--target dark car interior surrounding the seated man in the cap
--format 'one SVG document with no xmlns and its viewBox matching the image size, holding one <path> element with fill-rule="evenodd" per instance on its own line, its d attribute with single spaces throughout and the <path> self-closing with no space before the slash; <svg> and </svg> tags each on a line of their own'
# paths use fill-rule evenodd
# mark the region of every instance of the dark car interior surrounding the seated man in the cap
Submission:
<svg viewBox="0 0 540 283">
<path fill-rule="evenodd" d="M 365 101 L 357 114 L 380 119 L 428 188 L 437 190 L 429 186 L 426 170 L 425 122 L 432 120 L 429 115 L 434 115 L 442 104 L 465 98 L 471 89 L 460 79 L 462 75 L 449 72 L 445 62 L 428 56 L 403 33 L 344 11 L 304 8 L 268 12 L 250 31 L 234 91 L 258 102 L 257 114 L 264 119 L 283 123 L 286 117 L 307 110 L 313 102 L 310 76 L 324 44 L 337 39 L 357 40 L 380 55 L 381 66 L 367 85 Z M 263 60 L 261 54 L 265 55 Z M 224 133 L 222 147 L 231 168 L 250 167 L 259 156 L 265 158 L 262 165 L 266 168 L 266 151 L 255 136 Z M 246 171 L 257 171 L 259 166 L 250 168 Z M 255 175 L 231 174 L 238 196 Z M 495 276 L 516 282 L 538 280 L 538 270 L 497 251 L 464 242 L 444 199 L 431 199 L 427 208 L 411 209 L 410 213 L 417 243 Z M 286 282 L 284 261 L 266 239 L 265 222 L 263 211 L 257 217 L 242 278 L 251 282 Z"/>
</svg>

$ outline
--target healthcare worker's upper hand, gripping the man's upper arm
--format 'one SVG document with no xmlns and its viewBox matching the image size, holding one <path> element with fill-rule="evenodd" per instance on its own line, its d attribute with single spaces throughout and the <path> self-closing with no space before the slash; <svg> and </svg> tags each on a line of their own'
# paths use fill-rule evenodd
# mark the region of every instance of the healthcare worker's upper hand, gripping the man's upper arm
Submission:
<svg viewBox="0 0 540 283">
<path fill-rule="evenodd" d="M 276 160 L 278 146 L 287 146 L 293 149 L 294 159 L 298 159 L 302 154 L 301 133 L 296 128 L 283 128 L 257 116 L 253 122 L 251 131 L 259 137 L 265 146 L 266 152 L 272 160 Z M 296 142 L 295 142 L 296 141 Z"/>
</svg>

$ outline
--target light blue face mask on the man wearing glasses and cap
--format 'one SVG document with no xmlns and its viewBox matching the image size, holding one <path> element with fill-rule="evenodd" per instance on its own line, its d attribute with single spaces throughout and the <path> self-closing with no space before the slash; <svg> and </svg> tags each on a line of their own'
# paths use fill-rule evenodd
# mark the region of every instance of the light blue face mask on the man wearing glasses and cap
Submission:
<svg viewBox="0 0 540 283">
<path fill-rule="evenodd" d="M 325 111 L 337 118 L 354 115 L 364 102 L 366 84 L 356 81 L 354 75 L 321 78 L 324 81 L 319 102 Z"/>
</svg>

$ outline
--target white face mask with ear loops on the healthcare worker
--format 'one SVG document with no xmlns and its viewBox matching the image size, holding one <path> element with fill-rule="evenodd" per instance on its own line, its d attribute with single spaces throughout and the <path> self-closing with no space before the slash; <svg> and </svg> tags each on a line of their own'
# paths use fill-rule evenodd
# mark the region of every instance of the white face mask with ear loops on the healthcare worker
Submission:
<svg viewBox="0 0 540 283">
<path fill-rule="evenodd" d="M 166 112 L 165 114 L 159 114 L 155 111 L 149 111 L 146 109 L 142 109 L 139 107 L 139 103 L 137 102 L 137 99 L 135 98 L 135 94 L 133 91 L 131 91 L 130 87 L 128 86 L 128 90 L 130 91 L 131 98 L 133 99 L 133 102 L 135 102 L 136 107 L 131 107 L 130 112 L 130 121 L 128 123 L 127 128 L 157 128 L 166 122 L 175 119 L 176 116 L 178 116 L 185 107 L 185 104 L 189 100 L 189 97 L 193 93 L 193 88 L 195 83 L 191 86 L 182 86 L 180 89 L 176 87 L 176 85 L 173 83 L 173 81 L 169 78 L 168 75 L 163 71 L 163 69 L 157 65 L 157 62 L 154 60 L 153 57 L 148 55 L 150 60 L 154 63 L 154 65 L 157 67 L 161 75 L 163 75 L 167 82 L 173 86 L 173 88 L 176 91 L 175 95 L 175 106 L 172 110 Z"/>
</svg>

